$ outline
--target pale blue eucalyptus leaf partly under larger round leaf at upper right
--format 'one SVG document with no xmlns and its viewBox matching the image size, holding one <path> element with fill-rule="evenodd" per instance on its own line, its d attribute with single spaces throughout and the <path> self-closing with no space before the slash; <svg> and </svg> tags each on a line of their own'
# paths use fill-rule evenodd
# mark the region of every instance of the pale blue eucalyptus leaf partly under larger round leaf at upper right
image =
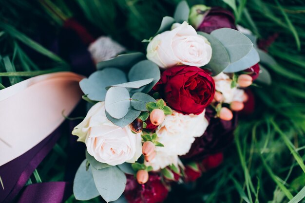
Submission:
<svg viewBox="0 0 305 203">
<path fill-rule="evenodd" d="M 223 72 L 224 73 L 235 73 L 243 71 L 251 66 L 254 66 L 260 61 L 260 57 L 254 47 L 251 51 L 244 56 L 242 59 L 230 64 Z"/>
</svg>

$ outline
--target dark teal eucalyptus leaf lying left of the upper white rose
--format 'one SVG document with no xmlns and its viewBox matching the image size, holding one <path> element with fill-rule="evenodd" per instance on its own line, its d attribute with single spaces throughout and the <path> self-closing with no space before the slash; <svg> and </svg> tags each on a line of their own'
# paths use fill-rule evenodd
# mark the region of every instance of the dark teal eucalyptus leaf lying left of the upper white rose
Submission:
<svg viewBox="0 0 305 203">
<path fill-rule="evenodd" d="M 96 64 L 97 70 L 102 70 L 108 67 L 115 67 L 123 71 L 130 69 L 134 64 L 143 60 L 145 55 L 140 52 L 122 54 L 110 60 L 101 61 Z M 117 83 L 118 84 L 118 83 Z"/>
</svg>

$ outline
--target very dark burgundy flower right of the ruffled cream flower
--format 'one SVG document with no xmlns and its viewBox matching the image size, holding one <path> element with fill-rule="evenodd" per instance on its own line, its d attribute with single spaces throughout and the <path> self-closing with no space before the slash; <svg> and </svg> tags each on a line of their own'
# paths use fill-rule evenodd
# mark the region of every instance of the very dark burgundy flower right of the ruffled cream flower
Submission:
<svg viewBox="0 0 305 203">
<path fill-rule="evenodd" d="M 201 161 L 211 154 L 222 151 L 232 142 L 233 131 L 237 126 L 237 114 L 234 113 L 233 119 L 230 121 L 215 118 L 214 115 L 215 111 L 208 107 L 206 118 L 210 121 L 210 124 L 206 132 L 195 139 L 190 151 L 182 158 Z"/>
</svg>

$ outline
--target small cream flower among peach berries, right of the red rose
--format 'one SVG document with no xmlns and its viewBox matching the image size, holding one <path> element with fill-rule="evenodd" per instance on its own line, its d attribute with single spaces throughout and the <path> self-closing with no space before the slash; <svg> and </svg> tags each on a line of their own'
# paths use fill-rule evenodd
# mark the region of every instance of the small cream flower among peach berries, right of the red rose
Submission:
<svg viewBox="0 0 305 203">
<path fill-rule="evenodd" d="M 213 77 L 213 79 L 215 81 L 215 89 L 223 94 L 225 103 L 229 104 L 232 101 L 243 101 L 244 90 L 236 87 L 231 88 L 232 80 L 229 75 L 220 73 Z"/>
</svg>

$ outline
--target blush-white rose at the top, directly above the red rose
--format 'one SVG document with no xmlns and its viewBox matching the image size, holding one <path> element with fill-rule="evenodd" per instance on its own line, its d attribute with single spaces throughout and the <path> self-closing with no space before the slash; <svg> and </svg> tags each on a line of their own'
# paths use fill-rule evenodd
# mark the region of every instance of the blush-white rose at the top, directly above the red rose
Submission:
<svg viewBox="0 0 305 203">
<path fill-rule="evenodd" d="M 174 24 L 171 31 L 155 37 L 147 46 L 147 58 L 161 68 L 174 65 L 201 67 L 210 62 L 212 48 L 206 37 L 198 35 L 187 22 Z"/>
</svg>

